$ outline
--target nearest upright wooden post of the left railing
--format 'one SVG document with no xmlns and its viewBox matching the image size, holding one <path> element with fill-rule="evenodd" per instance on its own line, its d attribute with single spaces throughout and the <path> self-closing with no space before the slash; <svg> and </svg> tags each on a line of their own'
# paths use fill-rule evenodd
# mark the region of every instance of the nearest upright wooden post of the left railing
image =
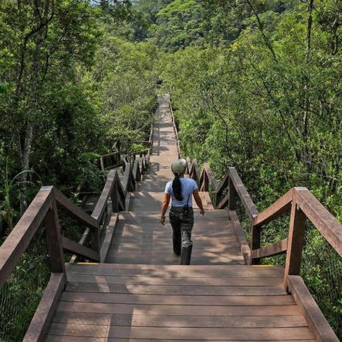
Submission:
<svg viewBox="0 0 342 342">
<path fill-rule="evenodd" d="M 51 190 L 51 187 L 46 188 Z M 53 187 L 52 191 L 54 191 Z M 43 224 L 46 232 L 50 270 L 53 273 L 65 273 L 62 237 L 55 200 L 52 201 Z"/>
</svg>

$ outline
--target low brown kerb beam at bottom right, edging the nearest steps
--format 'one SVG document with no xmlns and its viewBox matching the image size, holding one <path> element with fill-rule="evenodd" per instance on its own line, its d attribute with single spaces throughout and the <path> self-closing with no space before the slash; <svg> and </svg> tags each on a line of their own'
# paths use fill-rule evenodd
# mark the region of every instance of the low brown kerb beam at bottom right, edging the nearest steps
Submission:
<svg viewBox="0 0 342 342">
<path fill-rule="evenodd" d="M 300 276 L 288 275 L 287 286 L 293 299 L 301 308 L 316 340 L 319 342 L 339 342 L 336 334 L 312 298 L 303 279 Z"/>
</svg>

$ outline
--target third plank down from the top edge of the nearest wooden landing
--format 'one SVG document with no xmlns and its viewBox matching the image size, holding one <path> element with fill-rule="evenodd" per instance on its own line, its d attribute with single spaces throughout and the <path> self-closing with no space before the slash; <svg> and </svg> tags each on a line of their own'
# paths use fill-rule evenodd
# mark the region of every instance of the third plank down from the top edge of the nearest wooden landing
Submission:
<svg viewBox="0 0 342 342">
<path fill-rule="evenodd" d="M 97 284 L 95 282 L 69 282 L 66 287 L 66 291 L 196 296 L 274 296 L 287 294 L 282 286 L 161 286 L 103 283 Z"/>
</svg>

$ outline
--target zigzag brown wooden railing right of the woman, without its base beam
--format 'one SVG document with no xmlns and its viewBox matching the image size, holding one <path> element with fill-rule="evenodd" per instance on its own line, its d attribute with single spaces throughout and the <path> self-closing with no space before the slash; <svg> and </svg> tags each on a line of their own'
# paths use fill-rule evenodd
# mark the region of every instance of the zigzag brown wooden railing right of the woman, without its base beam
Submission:
<svg viewBox="0 0 342 342">
<path fill-rule="evenodd" d="M 196 171 L 198 171 L 196 159 L 194 159 L 190 164 L 190 159 L 186 158 L 186 173 L 193 179 L 197 178 L 194 176 L 195 167 Z M 292 250 L 292 253 L 297 253 L 297 256 L 295 258 L 290 258 L 289 256 L 287 260 L 288 269 L 286 269 L 286 272 L 289 272 L 288 274 L 298 274 L 303 239 L 303 236 L 301 236 L 303 235 L 303 231 L 298 232 L 298 227 L 302 227 L 301 229 L 303 229 L 306 218 L 314 224 L 329 244 L 342 257 L 342 225 L 326 208 L 324 208 L 324 206 L 307 188 L 295 187 L 290 189 L 271 206 L 259 213 L 235 168 L 229 167 L 221 182 L 218 183 L 211 172 L 209 165 L 205 163 L 198 182 L 200 190 L 203 191 L 208 191 L 209 182 L 211 183 L 215 190 L 214 202 L 216 202 L 216 199 L 219 199 L 219 196 L 226 191 L 225 196 L 219 201 L 219 203 L 215 203 L 216 209 L 223 209 L 228 206 L 230 211 L 235 210 L 233 193 L 238 195 L 252 224 L 251 263 L 257 263 L 261 258 L 270 257 L 272 255 L 281 253 L 291 254 L 289 251 Z M 295 210 L 294 208 L 297 209 Z M 298 209 L 303 212 L 303 215 L 298 216 L 300 215 L 300 211 L 298 211 Z M 261 248 L 261 228 L 267 223 L 277 219 L 281 215 L 289 213 L 290 211 L 292 221 L 290 222 L 289 238 Z M 291 233 L 291 231 L 293 232 Z M 292 241 L 293 239 L 298 239 L 298 243 L 294 244 Z"/>
</svg>

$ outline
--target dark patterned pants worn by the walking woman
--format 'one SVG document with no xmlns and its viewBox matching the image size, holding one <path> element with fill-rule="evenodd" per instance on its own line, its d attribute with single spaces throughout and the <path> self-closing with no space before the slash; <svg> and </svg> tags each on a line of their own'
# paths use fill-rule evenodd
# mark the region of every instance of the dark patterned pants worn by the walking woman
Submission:
<svg viewBox="0 0 342 342">
<path fill-rule="evenodd" d="M 183 214 L 183 208 L 171 207 L 170 223 L 173 230 L 173 240 L 182 241 L 183 247 L 192 245 L 191 232 L 194 226 L 194 210 L 189 207 L 187 215 Z"/>
</svg>

